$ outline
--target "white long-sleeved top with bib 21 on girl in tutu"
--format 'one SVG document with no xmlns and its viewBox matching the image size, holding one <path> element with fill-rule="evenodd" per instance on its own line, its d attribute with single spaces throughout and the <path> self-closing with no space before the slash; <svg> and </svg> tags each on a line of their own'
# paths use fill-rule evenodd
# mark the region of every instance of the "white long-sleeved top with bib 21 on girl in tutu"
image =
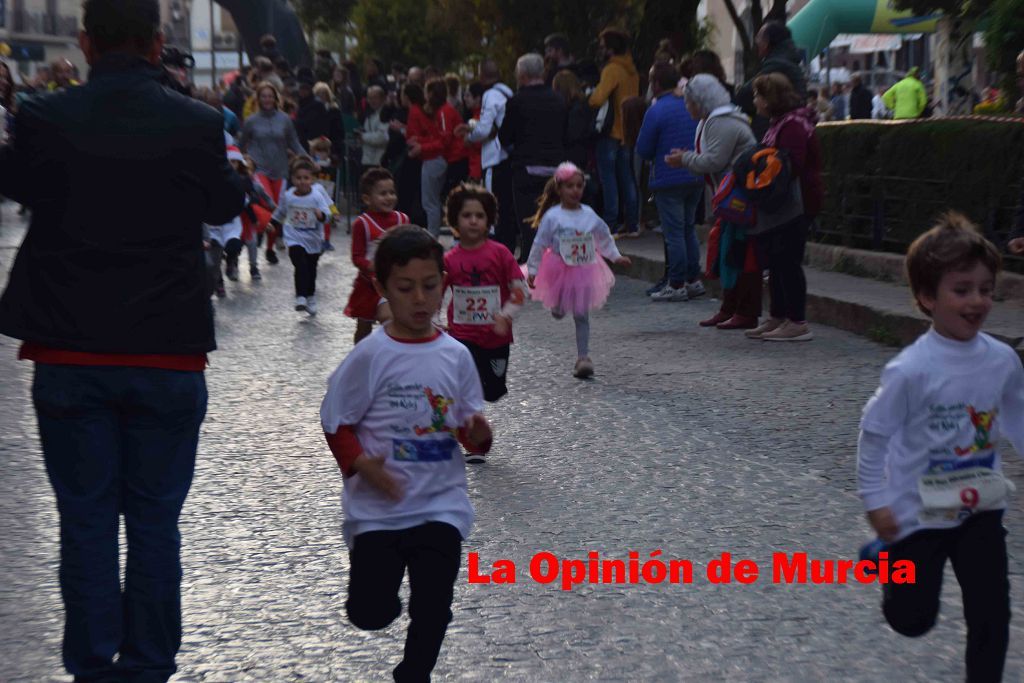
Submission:
<svg viewBox="0 0 1024 683">
<path fill-rule="evenodd" d="M 537 274 L 549 248 L 565 265 L 573 267 L 590 265 L 601 257 L 612 261 L 622 257 L 607 223 L 586 204 L 571 211 L 553 206 L 544 214 L 526 261 L 529 274 Z"/>
</svg>

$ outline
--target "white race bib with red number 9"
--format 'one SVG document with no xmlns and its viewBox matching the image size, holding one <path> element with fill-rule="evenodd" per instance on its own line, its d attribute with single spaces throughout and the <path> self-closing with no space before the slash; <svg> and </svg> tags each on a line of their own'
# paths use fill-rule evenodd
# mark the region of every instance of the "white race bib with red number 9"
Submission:
<svg viewBox="0 0 1024 683">
<path fill-rule="evenodd" d="M 982 510 L 998 509 L 1012 486 L 1001 474 L 987 467 L 925 474 L 918 481 L 921 521 L 951 521 Z"/>
</svg>

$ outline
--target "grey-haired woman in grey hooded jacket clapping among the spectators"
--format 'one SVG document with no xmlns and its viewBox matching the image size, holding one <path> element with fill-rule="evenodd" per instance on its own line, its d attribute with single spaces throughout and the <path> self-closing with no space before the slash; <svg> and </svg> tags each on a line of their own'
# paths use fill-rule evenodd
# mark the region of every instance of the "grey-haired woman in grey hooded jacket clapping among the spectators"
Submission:
<svg viewBox="0 0 1024 683">
<path fill-rule="evenodd" d="M 712 191 L 732 170 L 732 165 L 741 154 L 755 146 L 757 141 L 751 131 L 750 120 L 739 108 L 732 103 L 725 86 L 710 74 L 697 74 L 683 89 L 686 108 L 698 120 L 694 150 L 674 150 L 666 157 L 670 166 L 685 168 L 694 175 L 703 175 Z M 733 230 L 730 223 L 720 229 Z M 721 244 L 738 244 L 737 234 L 723 234 Z M 732 287 L 723 283 L 722 306 L 719 311 L 701 321 L 701 327 L 715 326 L 720 330 L 746 330 L 757 327 L 761 314 L 761 273 L 757 269 L 745 272 L 744 263 L 749 250 L 753 249 L 753 239 L 745 247 L 722 250 L 719 258 L 729 254 L 743 255 L 736 264 L 740 272 Z M 728 254 L 726 253 L 728 251 Z"/>
</svg>

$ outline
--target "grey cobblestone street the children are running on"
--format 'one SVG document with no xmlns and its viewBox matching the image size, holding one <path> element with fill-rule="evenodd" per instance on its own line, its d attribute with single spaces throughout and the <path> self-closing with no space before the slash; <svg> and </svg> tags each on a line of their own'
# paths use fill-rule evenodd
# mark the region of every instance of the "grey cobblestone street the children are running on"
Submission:
<svg viewBox="0 0 1024 683">
<path fill-rule="evenodd" d="M 6 282 L 24 226 L 3 205 Z M 176 681 L 390 680 L 408 618 L 364 633 L 344 618 L 342 479 L 319 428 L 328 375 L 351 347 L 342 314 L 347 238 L 321 261 L 319 315 L 292 310 L 292 266 L 261 263 L 214 302 L 219 349 L 181 520 L 184 642 Z M 261 257 L 262 259 L 262 257 Z M 125 283 L 131 287 L 131 283 Z M 469 467 L 477 521 L 435 680 L 964 679 L 965 627 L 947 567 L 942 614 L 910 640 L 885 624 L 878 585 L 774 585 L 774 552 L 856 558 L 857 423 L 896 350 L 825 327 L 806 344 L 698 328 L 718 302 L 650 303 L 620 278 L 592 318 L 596 377 L 571 377 L 572 325 L 539 305 L 515 326 L 510 394 L 486 413 L 489 461 Z M 57 531 L 30 400 L 32 365 L 0 337 L 0 681 L 63 681 Z M 1024 464 L 1005 446 L 1024 492 Z M 1007 681 L 1024 680 L 1024 496 L 1012 499 Z M 692 585 L 529 579 L 530 558 L 693 561 Z M 709 584 L 727 551 L 753 585 Z M 513 560 L 515 585 L 470 585 Z M 406 589 L 403 589 L 403 596 Z"/>
</svg>

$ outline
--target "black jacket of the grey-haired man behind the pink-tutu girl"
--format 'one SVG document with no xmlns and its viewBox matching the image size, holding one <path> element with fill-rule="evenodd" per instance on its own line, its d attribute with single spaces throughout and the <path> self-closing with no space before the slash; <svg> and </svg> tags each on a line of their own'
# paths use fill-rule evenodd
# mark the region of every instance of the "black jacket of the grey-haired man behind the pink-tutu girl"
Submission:
<svg viewBox="0 0 1024 683">
<path fill-rule="evenodd" d="M 498 139 L 514 166 L 558 166 L 565 161 L 565 102 L 546 85 L 519 88 L 505 104 Z"/>
</svg>

